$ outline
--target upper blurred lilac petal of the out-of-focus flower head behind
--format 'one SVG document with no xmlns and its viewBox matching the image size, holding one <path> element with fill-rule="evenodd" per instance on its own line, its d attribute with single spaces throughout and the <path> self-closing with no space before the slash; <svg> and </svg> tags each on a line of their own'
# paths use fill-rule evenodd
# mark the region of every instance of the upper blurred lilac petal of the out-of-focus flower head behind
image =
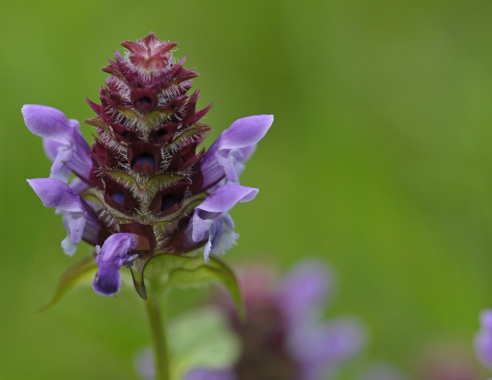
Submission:
<svg viewBox="0 0 492 380">
<path fill-rule="evenodd" d="M 332 286 L 332 274 L 324 263 L 301 263 L 283 277 L 278 293 L 279 307 L 291 324 L 313 320 Z"/>
</svg>

